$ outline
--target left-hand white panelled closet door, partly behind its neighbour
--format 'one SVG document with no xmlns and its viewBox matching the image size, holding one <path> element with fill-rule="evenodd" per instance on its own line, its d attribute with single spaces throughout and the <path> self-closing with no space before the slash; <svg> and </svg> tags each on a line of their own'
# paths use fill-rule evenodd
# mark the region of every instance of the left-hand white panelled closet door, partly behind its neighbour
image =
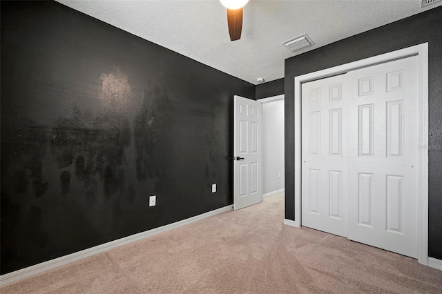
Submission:
<svg viewBox="0 0 442 294">
<path fill-rule="evenodd" d="M 347 234 L 347 75 L 302 84 L 302 226 Z"/>
</svg>

